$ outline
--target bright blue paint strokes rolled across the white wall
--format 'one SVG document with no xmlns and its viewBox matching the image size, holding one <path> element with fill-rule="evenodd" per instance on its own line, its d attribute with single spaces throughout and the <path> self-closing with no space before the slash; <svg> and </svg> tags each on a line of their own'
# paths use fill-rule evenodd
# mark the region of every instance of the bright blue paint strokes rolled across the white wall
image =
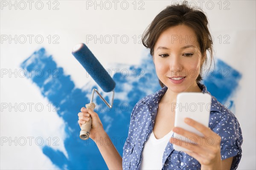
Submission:
<svg viewBox="0 0 256 170">
<path fill-rule="evenodd" d="M 221 102 L 225 102 L 235 91 L 241 74 L 221 60 L 218 60 L 216 65 L 221 69 L 228 68 L 230 78 L 215 76 L 213 79 L 205 79 L 204 83 L 212 95 Z M 91 94 L 92 88 L 95 88 L 96 85 L 84 91 L 76 88 L 70 76 L 64 74 L 63 68 L 57 67 L 52 56 L 48 55 L 44 48 L 35 51 L 21 64 L 21 67 L 27 71 L 32 70 L 32 77 L 30 78 L 49 102 L 58 104 L 58 116 L 64 119 L 66 123 L 67 138 L 64 141 L 64 146 L 68 158 L 60 150 L 54 150 L 52 146 L 44 146 L 43 153 L 60 169 L 108 169 L 96 144 L 91 139 L 83 141 L 79 138 L 80 127 L 77 123 L 77 113 L 86 104 L 86 101 L 90 101 L 86 96 Z M 116 67 L 118 68 L 118 65 Z M 40 70 L 44 75 L 38 76 Z M 122 155 L 122 147 L 128 134 L 132 108 L 141 98 L 160 89 L 150 54 L 143 58 L 140 67 L 131 65 L 128 70 L 129 77 L 124 77 L 120 72 L 113 75 L 116 82 L 115 107 L 111 110 L 97 108 L 103 127 L 120 155 Z M 130 87 L 129 91 L 124 89 L 125 85 Z M 216 88 L 221 90 L 216 91 Z M 127 98 L 125 100 L 122 96 L 124 94 Z M 96 103 L 97 105 L 104 105 L 98 96 Z M 103 144 L 104 140 L 101 142 Z"/>
</svg>

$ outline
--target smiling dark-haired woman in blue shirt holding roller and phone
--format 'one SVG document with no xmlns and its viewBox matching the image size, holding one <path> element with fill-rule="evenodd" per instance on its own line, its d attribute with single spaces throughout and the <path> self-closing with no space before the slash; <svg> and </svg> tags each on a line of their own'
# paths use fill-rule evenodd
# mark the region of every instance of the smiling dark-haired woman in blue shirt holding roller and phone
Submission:
<svg viewBox="0 0 256 170">
<path fill-rule="evenodd" d="M 141 99 L 131 113 L 123 157 L 113 144 L 97 144 L 109 169 L 236 169 L 241 159 L 241 128 L 236 117 L 212 96 L 209 127 L 192 119 L 185 122 L 199 130 L 200 138 L 174 127 L 176 96 L 180 92 L 209 93 L 200 84 L 201 70 L 212 60 L 212 39 L 207 17 L 199 10 L 182 5 L 168 6 L 152 21 L 143 35 L 150 49 L 162 89 Z M 191 74 L 193 73 L 193 75 Z M 90 138 L 108 138 L 97 113 L 81 108 L 79 125 L 92 117 Z M 173 132 L 200 139 L 186 144 L 172 138 Z M 208 138 L 212 142 L 207 141 Z M 110 140 L 110 139 L 109 139 Z M 111 141 L 110 141 L 111 142 Z M 106 142 L 108 143 L 108 142 Z M 173 144 L 189 149 L 180 152 Z"/>
</svg>

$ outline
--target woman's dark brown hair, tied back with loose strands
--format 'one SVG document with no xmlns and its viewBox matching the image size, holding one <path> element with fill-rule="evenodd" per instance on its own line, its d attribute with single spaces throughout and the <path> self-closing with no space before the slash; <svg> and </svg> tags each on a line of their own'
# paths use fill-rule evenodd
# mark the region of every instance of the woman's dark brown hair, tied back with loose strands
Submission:
<svg viewBox="0 0 256 170">
<path fill-rule="evenodd" d="M 207 17 L 200 9 L 189 7 L 187 1 L 183 1 L 181 5 L 175 4 L 167 6 L 163 11 L 157 14 L 152 23 L 143 33 L 143 45 L 150 49 L 150 54 L 153 57 L 154 46 L 160 34 L 167 28 L 181 24 L 189 26 L 195 31 L 203 61 L 201 67 L 207 63 L 207 50 L 209 51 L 211 65 L 213 59 L 212 37 L 207 27 Z M 201 75 L 202 69 L 200 68 L 200 74 L 198 75 L 196 82 L 202 80 Z M 161 87 L 165 86 L 160 80 L 159 82 Z"/>
</svg>

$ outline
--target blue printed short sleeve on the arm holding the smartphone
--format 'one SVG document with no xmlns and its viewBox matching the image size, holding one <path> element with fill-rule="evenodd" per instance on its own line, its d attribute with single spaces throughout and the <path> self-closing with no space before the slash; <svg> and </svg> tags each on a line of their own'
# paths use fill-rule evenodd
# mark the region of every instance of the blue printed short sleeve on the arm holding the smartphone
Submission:
<svg viewBox="0 0 256 170">
<path fill-rule="evenodd" d="M 231 111 L 225 108 L 213 131 L 221 136 L 221 160 L 234 156 L 231 170 L 236 170 L 241 160 L 241 144 L 243 142 L 238 120 Z"/>
</svg>

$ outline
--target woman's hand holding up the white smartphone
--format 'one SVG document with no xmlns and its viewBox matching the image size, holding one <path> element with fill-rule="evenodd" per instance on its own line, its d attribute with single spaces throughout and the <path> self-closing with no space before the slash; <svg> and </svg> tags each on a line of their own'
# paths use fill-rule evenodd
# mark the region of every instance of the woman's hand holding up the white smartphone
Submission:
<svg viewBox="0 0 256 170">
<path fill-rule="evenodd" d="M 187 137 L 193 142 L 196 139 L 196 144 L 181 142 L 181 140 L 173 137 L 170 139 L 170 142 L 191 150 L 186 151 L 185 153 L 197 159 L 201 164 L 201 169 L 221 169 L 221 137 L 218 136 L 217 133 L 213 132 L 209 127 L 206 127 L 193 119 L 186 118 L 185 122 L 186 124 L 195 127 L 195 129 L 200 131 L 204 137 L 198 136 L 197 134 L 184 130 L 183 128 L 174 127 L 172 129 L 173 132 Z"/>
</svg>

